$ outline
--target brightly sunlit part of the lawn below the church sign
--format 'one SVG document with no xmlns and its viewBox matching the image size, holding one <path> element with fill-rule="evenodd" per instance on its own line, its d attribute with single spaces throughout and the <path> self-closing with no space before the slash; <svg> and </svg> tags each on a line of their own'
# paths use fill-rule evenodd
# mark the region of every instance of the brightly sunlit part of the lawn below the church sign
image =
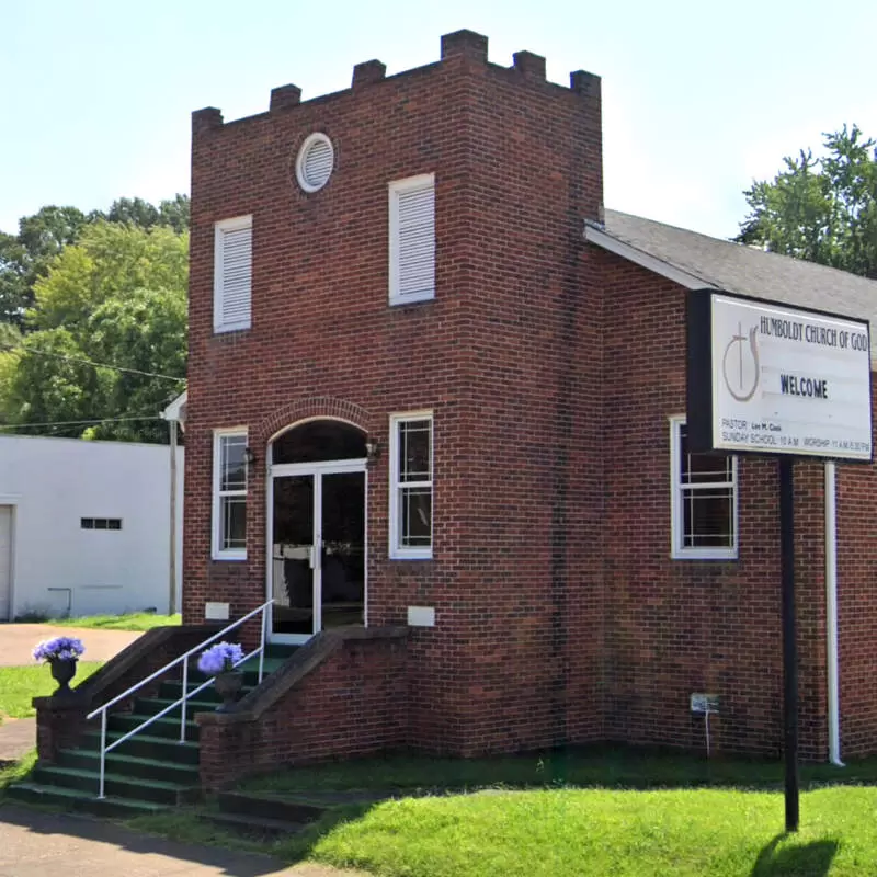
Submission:
<svg viewBox="0 0 877 877">
<path fill-rule="evenodd" d="M 309 857 L 383 877 L 862 877 L 877 874 L 876 818 L 870 787 L 806 793 L 789 836 L 778 793 L 481 791 L 376 805 Z"/>
</svg>

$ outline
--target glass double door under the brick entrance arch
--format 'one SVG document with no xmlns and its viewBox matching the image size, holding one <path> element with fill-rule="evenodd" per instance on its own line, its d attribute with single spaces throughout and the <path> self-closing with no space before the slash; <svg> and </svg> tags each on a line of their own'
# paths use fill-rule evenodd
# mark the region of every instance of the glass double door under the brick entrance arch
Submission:
<svg viewBox="0 0 877 877">
<path fill-rule="evenodd" d="M 365 466 L 275 466 L 272 472 L 272 639 L 365 620 Z"/>
</svg>

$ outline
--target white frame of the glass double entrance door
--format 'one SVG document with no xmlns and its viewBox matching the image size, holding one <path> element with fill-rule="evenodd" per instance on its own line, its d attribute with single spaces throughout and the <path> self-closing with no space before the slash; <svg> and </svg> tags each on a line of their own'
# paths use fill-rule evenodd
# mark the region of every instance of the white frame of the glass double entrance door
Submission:
<svg viewBox="0 0 877 877">
<path fill-rule="evenodd" d="M 266 574 L 265 600 L 271 600 L 274 585 L 274 479 L 289 476 L 314 477 L 314 542 L 311 559 L 311 588 L 314 589 L 314 627 L 311 634 L 274 634 L 274 619 L 269 612 L 267 636 L 272 642 L 300 645 L 307 642 L 317 631 L 322 629 L 322 477 L 324 475 L 343 475 L 345 472 L 363 474 L 363 626 L 368 626 L 368 469 L 365 458 L 333 459 L 324 463 L 281 463 L 267 467 L 267 489 L 265 498 L 265 539 Z"/>
</svg>

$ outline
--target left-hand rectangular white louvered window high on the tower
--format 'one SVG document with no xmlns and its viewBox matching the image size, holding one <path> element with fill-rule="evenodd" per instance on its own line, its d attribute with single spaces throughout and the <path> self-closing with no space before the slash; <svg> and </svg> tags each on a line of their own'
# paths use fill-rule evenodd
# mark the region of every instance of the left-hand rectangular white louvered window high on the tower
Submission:
<svg viewBox="0 0 877 877">
<path fill-rule="evenodd" d="M 213 328 L 249 329 L 252 322 L 253 218 L 216 224 L 214 238 Z"/>
</svg>

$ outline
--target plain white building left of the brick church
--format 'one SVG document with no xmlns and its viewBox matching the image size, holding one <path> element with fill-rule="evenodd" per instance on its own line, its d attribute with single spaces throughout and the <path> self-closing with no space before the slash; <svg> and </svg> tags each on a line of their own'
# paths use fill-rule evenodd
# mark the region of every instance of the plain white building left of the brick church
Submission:
<svg viewBox="0 0 877 877">
<path fill-rule="evenodd" d="M 179 606 L 176 455 L 172 569 L 168 446 L 0 435 L 0 620 Z"/>
</svg>

